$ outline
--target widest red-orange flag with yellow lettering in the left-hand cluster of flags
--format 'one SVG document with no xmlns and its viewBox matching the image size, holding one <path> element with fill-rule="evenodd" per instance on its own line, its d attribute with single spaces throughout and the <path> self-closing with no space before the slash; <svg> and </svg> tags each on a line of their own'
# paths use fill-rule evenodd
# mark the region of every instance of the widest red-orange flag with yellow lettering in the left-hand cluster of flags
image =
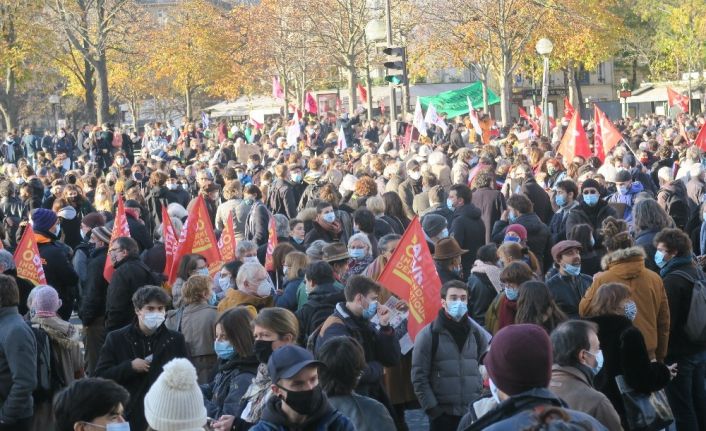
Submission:
<svg viewBox="0 0 706 431">
<path fill-rule="evenodd" d="M 196 199 L 196 204 L 191 209 L 181 233 L 179 245 L 174 254 L 174 262 L 169 271 L 169 284 L 174 284 L 176 281 L 179 261 L 187 254 L 198 253 L 203 256 L 206 259 L 209 272 L 215 273 L 221 263 L 221 254 L 218 251 L 216 235 L 213 233 L 213 225 L 211 225 L 203 196 L 199 195 Z"/>
</svg>

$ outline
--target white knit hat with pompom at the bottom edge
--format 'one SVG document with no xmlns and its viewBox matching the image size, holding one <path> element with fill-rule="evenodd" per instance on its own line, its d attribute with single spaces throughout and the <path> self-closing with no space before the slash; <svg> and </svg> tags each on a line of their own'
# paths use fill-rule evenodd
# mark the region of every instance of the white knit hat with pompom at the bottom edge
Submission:
<svg viewBox="0 0 706 431">
<path fill-rule="evenodd" d="M 203 431 L 206 407 L 196 382 L 196 369 L 178 358 L 164 366 L 145 395 L 145 419 L 157 431 Z"/>
</svg>

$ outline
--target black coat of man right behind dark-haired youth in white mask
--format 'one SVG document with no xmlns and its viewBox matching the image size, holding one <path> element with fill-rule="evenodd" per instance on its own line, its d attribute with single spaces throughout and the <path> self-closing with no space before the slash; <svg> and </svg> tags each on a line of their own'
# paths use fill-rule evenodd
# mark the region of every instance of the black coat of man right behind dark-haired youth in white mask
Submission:
<svg viewBox="0 0 706 431">
<path fill-rule="evenodd" d="M 132 295 L 142 286 L 159 285 L 154 273 L 136 256 L 126 256 L 115 264 L 105 302 L 107 332 L 129 325 L 135 320 Z"/>
</svg>

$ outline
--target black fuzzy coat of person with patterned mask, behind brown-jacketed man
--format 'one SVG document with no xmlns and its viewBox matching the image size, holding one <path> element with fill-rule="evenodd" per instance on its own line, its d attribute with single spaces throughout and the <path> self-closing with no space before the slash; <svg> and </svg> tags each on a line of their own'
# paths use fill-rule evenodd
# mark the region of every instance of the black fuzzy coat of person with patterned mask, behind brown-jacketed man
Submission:
<svg viewBox="0 0 706 431">
<path fill-rule="evenodd" d="M 637 314 L 640 314 L 639 308 Z M 625 316 L 604 314 L 589 320 L 598 325 L 598 341 L 604 358 L 603 368 L 593 379 L 593 387 L 604 393 L 624 418 L 625 407 L 615 376 L 623 375 L 632 388 L 650 393 L 667 386 L 669 370 L 663 363 L 650 361 L 641 331 Z"/>
</svg>

